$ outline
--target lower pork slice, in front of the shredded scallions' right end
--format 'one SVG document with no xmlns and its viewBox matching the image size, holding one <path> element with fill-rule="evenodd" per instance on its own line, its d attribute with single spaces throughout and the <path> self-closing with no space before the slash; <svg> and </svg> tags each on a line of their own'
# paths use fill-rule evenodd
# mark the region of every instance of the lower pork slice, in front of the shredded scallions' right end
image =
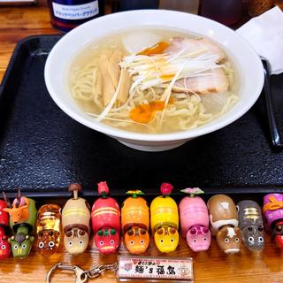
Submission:
<svg viewBox="0 0 283 283">
<path fill-rule="evenodd" d="M 217 68 L 200 75 L 177 80 L 173 86 L 175 92 L 191 92 L 198 95 L 225 92 L 229 81 L 222 68 Z"/>
</svg>

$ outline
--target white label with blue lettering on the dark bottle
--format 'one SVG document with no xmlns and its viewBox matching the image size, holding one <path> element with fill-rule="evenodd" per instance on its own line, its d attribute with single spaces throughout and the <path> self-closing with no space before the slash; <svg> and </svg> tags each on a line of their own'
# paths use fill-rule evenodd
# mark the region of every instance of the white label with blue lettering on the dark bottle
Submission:
<svg viewBox="0 0 283 283">
<path fill-rule="evenodd" d="M 88 19 L 99 13 L 98 0 L 80 5 L 52 3 L 54 16 L 60 19 Z"/>
</svg>

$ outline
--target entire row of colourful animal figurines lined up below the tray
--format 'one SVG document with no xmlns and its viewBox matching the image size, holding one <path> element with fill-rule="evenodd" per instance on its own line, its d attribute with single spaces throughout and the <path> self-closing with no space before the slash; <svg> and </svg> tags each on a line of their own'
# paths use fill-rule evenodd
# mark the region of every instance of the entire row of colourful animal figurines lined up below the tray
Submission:
<svg viewBox="0 0 283 283">
<path fill-rule="evenodd" d="M 214 195 L 207 205 L 198 194 L 199 188 L 186 188 L 189 194 L 179 204 L 169 195 L 172 185 L 161 186 L 162 195 L 150 204 L 150 228 L 154 240 L 163 253 L 174 251 L 181 235 L 187 238 L 188 246 L 195 252 L 210 247 L 211 235 L 216 236 L 220 249 L 226 253 L 237 253 L 241 241 L 252 251 L 264 249 L 264 226 L 272 232 L 272 238 L 283 247 L 283 195 L 264 196 L 264 219 L 260 206 L 254 201 L 233 203 L 227 195 Z M 33 242 L 42 255 L 53 255 L 64 232 L 65 249 L 78 255 L 88 247 L 90 222 L 94 232 L 96 248 L 102 253 L 114 253 L 119 248 L 120 233 L 124 235 L 126 248 L 132 254 L 142 254 L 149 247 L 149 206 L 142 191 L 127 192 L 119 204 L 110 196 L 106 182 L 98 184 L 100 198 L 92 210 L 88 202 L 78 196 L 80 184 L 71 184 L 69 199 L 62 210 L 56 204 L 45 204 L 36 211 L 33 199 L 18 191 L 12 203 L 4 194 L 0 200 L 0 259 L 10 255 L 19 258 L 28 256 Z M 180 218 L 180 219 L 179 219 Z M 34 237 L 35 235 L 35 237 Z M 282 235 L 282 236 L 281 236 Z"/>
</svg>

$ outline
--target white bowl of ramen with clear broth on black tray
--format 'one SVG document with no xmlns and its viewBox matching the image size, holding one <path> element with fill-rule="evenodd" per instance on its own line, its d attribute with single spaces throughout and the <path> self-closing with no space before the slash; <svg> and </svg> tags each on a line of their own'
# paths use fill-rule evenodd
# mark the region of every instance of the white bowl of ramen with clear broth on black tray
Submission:
<svg viewBox="0 0 283 283">
<path fill-rule="evenodd" d="M 50 51 L 44 77 L 71 118 L 147 151 L 228 126 L 264 84 L 259 57 L 232 29 L 163 10 L 113 13 L 76 27 Z"/>
</svg>

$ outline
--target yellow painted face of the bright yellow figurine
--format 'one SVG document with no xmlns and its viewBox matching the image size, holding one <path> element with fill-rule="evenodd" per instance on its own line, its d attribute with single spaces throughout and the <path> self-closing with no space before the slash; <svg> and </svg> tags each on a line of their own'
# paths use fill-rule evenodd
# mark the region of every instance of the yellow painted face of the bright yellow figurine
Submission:
<svg viewBox="0 0 283 283">
<path fill-rule="evenodd" d="M 162 253 L 171 253 L 179 243 L 179 233 L 175 228 L 164 226 L 154 234 L 157 248 Z"/>
</svg>

